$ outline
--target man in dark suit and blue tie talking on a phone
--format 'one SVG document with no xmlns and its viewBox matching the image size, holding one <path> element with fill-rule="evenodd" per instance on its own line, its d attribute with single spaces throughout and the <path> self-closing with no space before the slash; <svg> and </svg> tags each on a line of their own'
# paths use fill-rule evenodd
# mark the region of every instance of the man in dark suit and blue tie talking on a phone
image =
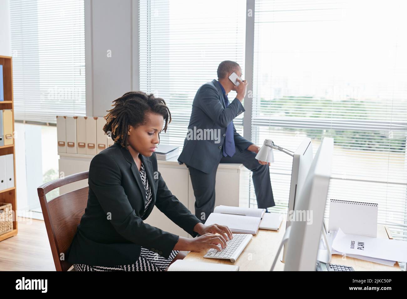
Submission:
<svg viewBox="0 0 407 299">
<path fill-rule="evenodd" d="M 260 147 L 244 139 L 234 128 L 233 119 L 245 111 L 242 101 L 247 82 L 239 80 L 239 86 L 234 85 L 229 79 L 233 72 L 241 78 L 239 64 L 223 61 L 217 70 L 218 80 L 199 87 L 192 104 L 184 148 L 178 158 L 179 163 L 185 163 L 189 169 L 195 195 L 195 215 L 204 223 L 214 210 L 219 163 L 241 163 L 250 169 L 258 208 L 275 206 L 270 164 L 256 160 Z M 230 103 L 228 93 L 231 90 L 237 95 Z"/>
</svg>

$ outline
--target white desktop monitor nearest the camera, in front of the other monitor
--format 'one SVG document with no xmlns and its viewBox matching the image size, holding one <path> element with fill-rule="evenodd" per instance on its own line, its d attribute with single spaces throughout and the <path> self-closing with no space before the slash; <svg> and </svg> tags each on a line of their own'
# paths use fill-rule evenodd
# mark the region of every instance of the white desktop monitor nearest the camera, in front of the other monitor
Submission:
<svg viewBox="0 0 407 299">
<path fill-rule="evenodd" d="M 315 271 L 332 159 L 333 139 L 325 137 L 296 196 L 295 210 L 310 218 L 291 221 L 284 271 Z"/>
</svg>

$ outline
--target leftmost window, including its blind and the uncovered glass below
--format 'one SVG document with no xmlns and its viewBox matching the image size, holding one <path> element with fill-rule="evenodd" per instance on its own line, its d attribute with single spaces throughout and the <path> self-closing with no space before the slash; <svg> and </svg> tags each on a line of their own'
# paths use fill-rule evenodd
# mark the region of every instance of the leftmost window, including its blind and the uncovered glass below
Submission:
<svg viewBox="0 0 407 299">
<path fill-rule="evenodd" d="M 17 200 L 41 218 L 37 187 L 59 177 L 56 116 L 85 115 L 84 0 L 10 0 L 10 23 L 14 116 L 26 122 L 15 124 Z"/>
</svg>

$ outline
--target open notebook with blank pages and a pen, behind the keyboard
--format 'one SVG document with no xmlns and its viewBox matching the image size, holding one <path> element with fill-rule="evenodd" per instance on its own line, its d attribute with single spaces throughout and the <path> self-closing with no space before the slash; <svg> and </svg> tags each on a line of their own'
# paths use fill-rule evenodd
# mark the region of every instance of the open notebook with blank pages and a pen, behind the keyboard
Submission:
<svg viewBox="0 0 407 299">
<path fill-rule="evenodd" d="M 217 206 L 205 222 L 226 225 L 233 233 L 257 234 L 266 209 Z"/>
</svg>

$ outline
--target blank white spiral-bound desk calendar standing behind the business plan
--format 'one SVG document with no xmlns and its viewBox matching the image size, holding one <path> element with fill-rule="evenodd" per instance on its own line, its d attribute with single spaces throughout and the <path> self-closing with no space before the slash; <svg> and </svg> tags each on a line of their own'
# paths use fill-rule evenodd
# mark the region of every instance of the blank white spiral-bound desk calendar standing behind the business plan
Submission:
<svg viewBox="0 0 407 299">
<path fill-rule="evenodd" d="M 328 230 L 376 238 L 377 209 L 377 204 L 331 199 Z"/>
</svg>

